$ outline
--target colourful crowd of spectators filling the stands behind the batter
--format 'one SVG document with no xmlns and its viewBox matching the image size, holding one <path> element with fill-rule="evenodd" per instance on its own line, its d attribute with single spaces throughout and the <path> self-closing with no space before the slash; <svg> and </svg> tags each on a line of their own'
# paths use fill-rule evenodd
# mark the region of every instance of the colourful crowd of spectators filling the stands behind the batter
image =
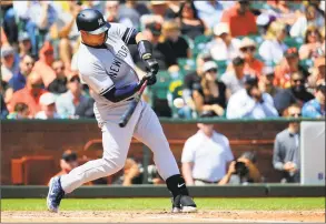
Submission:
<svg viewBox="0 0 326 224">
<path fill-rule="evenodd" d="M 160 65 L 145 99 L 159 116 L 325 116 L 325 1 L 6 1 L 1 119 L 93 118 L 75 18 L 96 8 L 142 31 Z M 129 45 L 145 72 L 135 45 Z"/>
</svg>

